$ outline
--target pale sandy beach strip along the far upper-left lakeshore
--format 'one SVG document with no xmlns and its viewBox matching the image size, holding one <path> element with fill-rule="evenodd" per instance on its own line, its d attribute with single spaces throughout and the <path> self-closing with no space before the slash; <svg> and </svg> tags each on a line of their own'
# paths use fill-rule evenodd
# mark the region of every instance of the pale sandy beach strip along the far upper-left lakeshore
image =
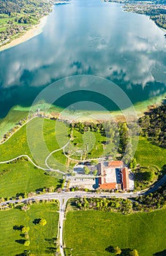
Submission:
<svg viewBox="0 0 166 256">
<path fill-rule="evenodd" d="M 45 23 L 47 21 L 48 16 L 44 16 L 40 19 L 40 22 L 33 26 L 31 29 L 29 29 L 28 31 L 26 31 L 25 34 L 23 34 L 22 36 L 13 39 L 12 42 L 9 42 L 7 45 L 2 45 L 0 47 L 0 51 L 1 50 L 6 50 L 8 48 L 12 48 L 15 45 L 20 45 L 22 42 L 26 42 L 29 39 L 31 39 L 32 37 L 36 37 L 38 34 L 40 34 L 42 32 L 43 27 L 45 26 Z"/>
</svg>

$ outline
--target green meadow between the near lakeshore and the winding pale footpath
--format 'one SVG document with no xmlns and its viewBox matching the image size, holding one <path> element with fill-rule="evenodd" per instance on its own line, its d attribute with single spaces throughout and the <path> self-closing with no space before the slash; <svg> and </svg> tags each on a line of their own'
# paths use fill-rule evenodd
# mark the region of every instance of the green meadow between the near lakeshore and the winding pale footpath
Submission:
<svg viewBox="0 0 166 256">
<path fill-rule="evenodd" d="M 66 125 L 61 123 L 56 129 L 55 121 L 34 118 L 15 132 L 6 143 L 0 145 L 0 161 L 28 154 L 37 165 L 45 167 L 45 158 L 48 154 L 64 146 L 69 140 L 65 127 Z"/>
</svg>

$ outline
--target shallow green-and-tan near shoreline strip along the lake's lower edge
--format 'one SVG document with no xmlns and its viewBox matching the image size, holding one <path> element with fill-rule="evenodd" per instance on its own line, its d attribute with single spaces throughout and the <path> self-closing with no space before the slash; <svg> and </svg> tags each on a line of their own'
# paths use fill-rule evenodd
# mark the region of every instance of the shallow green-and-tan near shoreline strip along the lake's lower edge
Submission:
<svg viewBox="0 0 166 256">
<path fill-rule="evenodd" d="M 137 117 L 140 118 L 144 115 L 144 113 L 148 112 L 155 106 L 162 105 L 165 101 L 166 94 L 162 94 L 159 97 L 154 97 L 152 99 L 148 99 L 145 102 L 138 102 L 136 105 L 134 105 L 135 112 L 137 113 Z M 38 105 L 34 106 L 33 110 L 37 110 Z M 29 116 L 31 108 L 23 108 L 21 106 L 14 106 L 10 112 L 5 116 L 4 118 L 0 118 L 0 140 L 3 137 L 3 135 L 12 129 L 15 124 L 20 121 L 21 118 L 27 118 Z M 127 109 L 124 110 L 124 113 L 127 113 L 127 115 L 130 115 L 131 110 Z M 40 105 L 40 113 L 45 115 L 47 113 L 50 117 L 56 117 L 58 116 L 61 119 L 70 119 L 73 120 L 77 117 L 78 121 L 94 121 L 94 118 L 96 118 L 99 121 L 109 121 L 113 118 L 113 120 L 116 121 L 125 121 L 125 117 L 123 116 L 123 113 L 119 111 L 109 112 L 99 112 L 99 111 L 91 111 L 91 110 L 78 110 L 75 111 L 75 113 L 72 112 L 65 112 L 62 108 L 58 108 L 56 106 L 48 105 L 46 102 L 42 105 Z"/>
</svg>

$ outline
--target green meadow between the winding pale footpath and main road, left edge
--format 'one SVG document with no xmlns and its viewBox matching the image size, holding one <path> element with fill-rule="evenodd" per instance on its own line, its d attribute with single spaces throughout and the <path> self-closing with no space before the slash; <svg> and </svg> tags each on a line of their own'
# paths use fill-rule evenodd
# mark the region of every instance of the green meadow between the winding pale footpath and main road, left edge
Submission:
<svg viewBox="0 0 166 256">
<path fill-rule="evenodd" d="M 0 177 L 0 197 L 12 197 L 21 192 L 34 192 L 42 187 L 56 187 L 59 184 L 58 178 L 62 178 L 60 174 L 57 174 L 58 178 L 45 175 L 45 171 L 35 168 L 27 161 L 0 165 L 0 173 L 3 170 L 10 171 Z"/>
</svg>

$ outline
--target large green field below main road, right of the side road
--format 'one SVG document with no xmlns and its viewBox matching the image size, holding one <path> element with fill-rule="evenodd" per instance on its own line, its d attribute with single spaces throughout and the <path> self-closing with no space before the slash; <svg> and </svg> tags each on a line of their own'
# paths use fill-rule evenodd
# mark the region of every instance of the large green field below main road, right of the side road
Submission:
<svg viewBox="0 0 166 256">
<path fill-rule="evenodd" d="M 139 256 L 152 256 L 166 249 L 165 219 L 166 209 L 130 215 L 69 211 L 64 225 L 67 255 L 113 255 L 105 249 L 119 246 L 137 249 Z"/>
</svg>

